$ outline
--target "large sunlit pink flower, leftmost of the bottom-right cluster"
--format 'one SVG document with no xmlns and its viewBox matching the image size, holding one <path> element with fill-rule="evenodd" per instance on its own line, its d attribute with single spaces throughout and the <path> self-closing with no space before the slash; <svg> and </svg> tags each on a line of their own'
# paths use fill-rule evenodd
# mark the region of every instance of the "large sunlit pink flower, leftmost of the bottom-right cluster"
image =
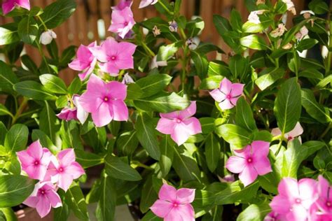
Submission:
<svg viewBox="0 0 332 221">
<path fill-rule="evenodd" d="M 284 215 L 285 220 L 306 221 L 308 209 L 316 200 L 316 180 L 304 178 L 297 182 L 294 178 L 283 178 L 270 207 L 275 213 Z"/>
</svg>

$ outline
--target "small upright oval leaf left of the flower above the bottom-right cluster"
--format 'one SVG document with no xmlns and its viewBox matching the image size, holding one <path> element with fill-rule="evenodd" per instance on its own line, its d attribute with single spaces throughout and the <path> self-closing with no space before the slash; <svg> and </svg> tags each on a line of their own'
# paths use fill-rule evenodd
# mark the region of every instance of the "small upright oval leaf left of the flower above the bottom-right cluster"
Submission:
<svg viewBox="0 0 332 221">
<path fill-rule="evenodd" d="M 213 172 L 218 166 L 220 158 L 220 143 L 213 133 L 209 134 L 205 140 L 205 157 L 207 167 Z"/>
</svg>

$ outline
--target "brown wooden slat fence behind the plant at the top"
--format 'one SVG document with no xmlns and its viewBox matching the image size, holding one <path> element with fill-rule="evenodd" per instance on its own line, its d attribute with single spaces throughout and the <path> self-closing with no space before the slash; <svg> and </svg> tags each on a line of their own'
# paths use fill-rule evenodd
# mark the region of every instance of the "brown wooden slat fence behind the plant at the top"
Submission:
<svg viewBox="0 0 332 221">
<path fill-rule="evenodd" d="M 100 41 L 109 35 L 107 31 L 111 23 L 111 6 L 115 6 L 120 0 L 76 0 L 77 9 L 70 19 L 55 29 L 57 33 L 57 44 L 60 52 L 69 45 L 87 45 L 92 41 Z M 144 18 L 158 16 L 153 6 L 139 9 L 140 0 L 134 0 L 132 10 L 136 21 L 144 20 Z M 45 7 L 52 3 L 53 0 L 30 0 L 32 6 Z M 181 13 L 190 19 L 193 15 L 199 15 L 205 20 L 205 30 L 200 36 L 201 41 L 209 41 L 221 46 L 223 50 L 228 52 L 230 49 L 221 40 L 216 32 L 212 22 L 212 15 L 219 14 L 229 17 L 232 8 L 237 8 L 244 19 L 248 16 L 248 11 L 244 5 L 244 0 L 182 0 Z M 303 0 L 293 0 L 296 4 L 296 10 L 304 7 Z M 0 24 L 10 22 L 11 18 L 0 17 Z M 38 55 L 36 49 L 32 47 L 26 48 L 29 55 Z M 40 62 L 39 56 L 34 57 L 36 62 Z M 69 83 L 77 73 L 66 69 L 60 73 L 60 76 Z"/>
</svg>

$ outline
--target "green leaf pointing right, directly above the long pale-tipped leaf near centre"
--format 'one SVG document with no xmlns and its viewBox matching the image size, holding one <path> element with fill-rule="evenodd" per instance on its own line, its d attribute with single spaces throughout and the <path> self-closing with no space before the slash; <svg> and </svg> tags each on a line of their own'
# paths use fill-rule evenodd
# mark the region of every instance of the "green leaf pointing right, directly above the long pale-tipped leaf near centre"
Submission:
<svg viewBox="0 0 332 221">
<path fill-rule="evenodd" d="M 172 77 L 167 74 L 153 74 L 137 80 L 137 85 L 141 87 L 141 97 L 151 97 L 170 84 Z"/>
</svg>

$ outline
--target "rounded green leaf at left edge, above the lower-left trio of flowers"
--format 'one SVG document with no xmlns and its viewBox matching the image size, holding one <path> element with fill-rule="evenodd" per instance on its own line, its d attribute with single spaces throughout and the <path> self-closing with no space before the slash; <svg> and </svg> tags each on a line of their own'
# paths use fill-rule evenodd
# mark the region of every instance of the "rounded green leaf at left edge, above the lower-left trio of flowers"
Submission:
<svg viewBox="0 0 332 221">
<path fill-rule="evenodd" d="M 5 138 L 5 148 L 8 152 L 18 152 L 27 148 L 29 129 L 23 124 L 15 124 Z"/>
</svg>

